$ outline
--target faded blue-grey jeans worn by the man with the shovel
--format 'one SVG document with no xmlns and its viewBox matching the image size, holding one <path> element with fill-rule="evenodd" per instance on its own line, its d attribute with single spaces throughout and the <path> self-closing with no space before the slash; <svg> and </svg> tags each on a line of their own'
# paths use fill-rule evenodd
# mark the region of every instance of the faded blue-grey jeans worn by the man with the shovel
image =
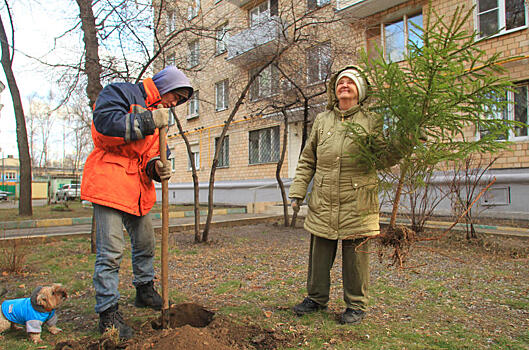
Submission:
<svg viewBox="0 0 529 350">
<path fill-rule="evenodd" d="M 132 246 L 132 283 L 137 286 L 154 279 L 155 238 L 149 214 L 135 216 L 94 204 L 97 255 L 94 268 L 95 311 L 101 313 L 118 303 L 119 266 L 123 258 L 123 226 Z"/>
</svg>

